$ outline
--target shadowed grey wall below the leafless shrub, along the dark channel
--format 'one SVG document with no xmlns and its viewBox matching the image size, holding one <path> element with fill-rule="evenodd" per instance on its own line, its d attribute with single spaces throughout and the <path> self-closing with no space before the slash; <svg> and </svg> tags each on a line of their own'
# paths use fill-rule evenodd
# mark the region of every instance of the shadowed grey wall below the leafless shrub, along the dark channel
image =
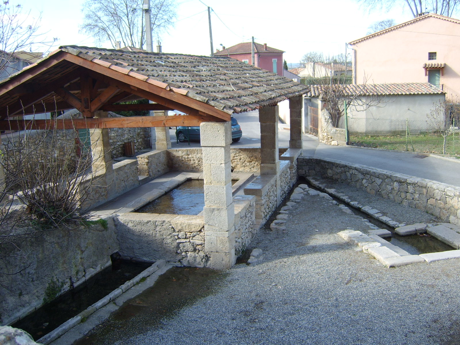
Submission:
<svg viewBox="0 0 460 345">
<path fill-rule="evenodd" d="M 12 324 L 57 295 L 110 265 L 118 251 L 113 222 L 103 229 L 39 230 L 0 262 L 0 323 Z M 16 229 L 17 234 L 30 229 Z M 2 246 L 2 250 L 7 249 Z"/>
</svg>

